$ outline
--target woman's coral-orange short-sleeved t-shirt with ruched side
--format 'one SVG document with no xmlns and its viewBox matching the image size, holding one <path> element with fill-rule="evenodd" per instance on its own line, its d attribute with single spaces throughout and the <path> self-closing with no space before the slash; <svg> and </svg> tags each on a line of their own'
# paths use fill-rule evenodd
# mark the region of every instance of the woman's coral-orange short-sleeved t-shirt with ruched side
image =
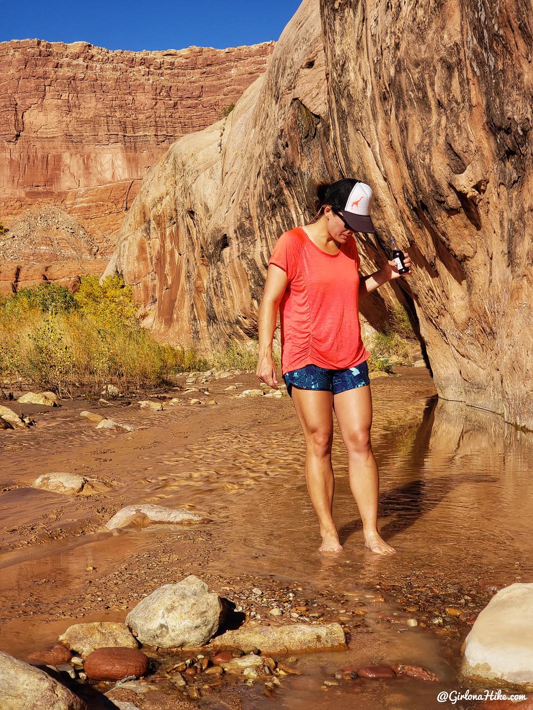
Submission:
<svg viewBox="0 0 533 710">
<path fill-rule="evenodd" d="M 319 249 L 301 226 L 276 241 L 269 265 L 289 279 L 279 305 L 283 374 L 309 364 L 344 370 L 370 356 L 359 322 L 360 261 L 353 238 L 336 254 Z"/>
</svg>

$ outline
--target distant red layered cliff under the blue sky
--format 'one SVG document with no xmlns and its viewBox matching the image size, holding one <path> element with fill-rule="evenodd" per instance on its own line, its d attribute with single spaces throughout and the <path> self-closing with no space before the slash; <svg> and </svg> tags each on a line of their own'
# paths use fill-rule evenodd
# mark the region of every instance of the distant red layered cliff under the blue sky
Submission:
<svg viewBox="0 0 533 710">
<path fill-rule="evenodd" d="M 264 72 L 273 45 L 0 43 L 0 219 L 9 226 L 6 217 L 41 200 L 80 220 L 97 244 L 114 244 L 146 169 L 176 138 L 219 119 Z"/>
</svg>

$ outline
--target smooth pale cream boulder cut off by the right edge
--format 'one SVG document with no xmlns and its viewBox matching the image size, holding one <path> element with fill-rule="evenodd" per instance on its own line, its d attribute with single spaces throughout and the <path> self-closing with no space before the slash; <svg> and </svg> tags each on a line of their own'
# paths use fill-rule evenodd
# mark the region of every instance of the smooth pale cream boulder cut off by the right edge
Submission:
<svg viewBox="0 0 533 710">
<path fill-rule="evenodd" d="M 533 689 L 533 582 L 500 589 L 465 640 L 463 677 Z"/>
</svg>

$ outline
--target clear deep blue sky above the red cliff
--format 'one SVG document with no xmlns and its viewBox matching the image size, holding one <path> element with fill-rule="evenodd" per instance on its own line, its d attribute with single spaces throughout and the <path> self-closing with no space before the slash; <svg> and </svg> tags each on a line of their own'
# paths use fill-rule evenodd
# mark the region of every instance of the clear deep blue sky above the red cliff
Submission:
<svg viewBox="0 0 533 710">
<path fill-rule="evenodd" d="M 135 51 L 235 47 L 278 39 L 300 1 L 5 0 L 0 41 L 84 40 Z"/>
</svg>

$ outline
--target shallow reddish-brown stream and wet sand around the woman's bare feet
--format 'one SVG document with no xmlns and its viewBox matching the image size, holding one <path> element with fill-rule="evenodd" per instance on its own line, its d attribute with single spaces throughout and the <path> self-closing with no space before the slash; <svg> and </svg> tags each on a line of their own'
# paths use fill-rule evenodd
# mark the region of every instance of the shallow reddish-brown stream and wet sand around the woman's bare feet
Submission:
<svg viewBox="0 0 533 710">
<path fill-rule="evenodd" d="M 201 385 L 188 394 L 161 390 L 185 403 L 162 412 L 120 400 L 63 400 L 54 409 L 23 405 L 36 426 L 1 432 L 0 439 L 1 650 L 25 659 L 53 645 L 76 621 L 123 621 L 141 596 L 196 574 L 244 611 L 259 613 L 259 623 L 278 623 L 265 613 L 276 600 L 290 599 L 294 608 L 313 608 L 323 614 L 321 621 L 345 626 L 348 651 L 298 656 L 295 665 L 303 676 L 284 679 L 275 704 L 446 706 L 437 692 L 458 687 L 459 650 L 475 613 L 494 589 L 533 580 L 533 437 L 492 413 L 437 400 L 423 368 L 401 372 L 372 381 L 380 529 L 398 550 L 385 558 L 362 547 L 336 422 L 335 520 L 345 549 L 338 556 L 317 554 L 320 538 L 303 478 L 305 449 L 294 406 L 287 396 L 231 398 L 258 386 L 252 373 L 211 378 L 208 395 Z M 226 391 L 230 385 L 235 391 Z M 190 397 L 214 398 L 217 404 L 189 405 Z M 2 404 L 18 411 L 16 403 Z M 96 430 L 80 417 L 85 409 L 135 431 Z M 115 487 L 88 497 L 29 487 L 51 471 L 95 475 Z M 102 530 L 131 503 L 185 507 L 209 522 Z M 254 586 L 264 591 L 262 603 L 251 596 Z M 375 601 L 376 594 L 385 601 Z M 460 609 L 463 620 L 449 616 L 449 607 Z M 394 615 L 414 617 L 419 626 L 383 618 Z M 333 680 L 346 665 L 394 662 L 426 667 L 441 682 L 397 678 L 323 689 L 324 679 Z M 242 708 L 273 702 L 261 684 L 233 691 Z M 227 694 L 213 689 L 200 699 L 204 703 L 227 707 Z"/>
</svg>

